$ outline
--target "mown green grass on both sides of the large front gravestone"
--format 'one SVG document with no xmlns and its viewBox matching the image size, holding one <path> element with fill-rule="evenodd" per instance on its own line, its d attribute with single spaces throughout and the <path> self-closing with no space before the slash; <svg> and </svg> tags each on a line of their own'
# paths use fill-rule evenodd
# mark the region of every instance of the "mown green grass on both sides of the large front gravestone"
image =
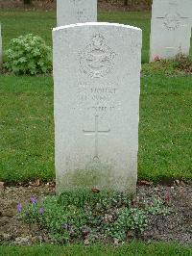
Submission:
<svg viewBox="0 0 192 256">
<path fill-rule="evenodd" d="M 141 82 L 139 179 L 191 179 L 192 78 Z M 52 78 L 0 76 L 0 106 L 0 180 L 54 178 Z"/>
</svg>

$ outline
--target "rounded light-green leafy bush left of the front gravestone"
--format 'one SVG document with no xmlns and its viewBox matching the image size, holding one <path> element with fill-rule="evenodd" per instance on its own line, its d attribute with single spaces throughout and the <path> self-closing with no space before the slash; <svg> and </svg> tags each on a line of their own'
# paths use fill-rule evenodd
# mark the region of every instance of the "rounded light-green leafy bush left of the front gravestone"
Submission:
<svg viewBox="0 0 192 256">
<path fill-rule="evenodd" d="M 52 50 L 45 41 L 32 34 L 13 38 L 6 51 L 5 67 L 14 74 L 36 75 L 52 69 Z"/>
</svg>

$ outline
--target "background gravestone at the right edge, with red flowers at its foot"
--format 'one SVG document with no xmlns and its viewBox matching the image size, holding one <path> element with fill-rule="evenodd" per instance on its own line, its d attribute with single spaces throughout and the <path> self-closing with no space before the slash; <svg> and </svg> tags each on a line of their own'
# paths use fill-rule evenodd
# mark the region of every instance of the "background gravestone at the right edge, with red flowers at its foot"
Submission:
<svg viewBox="0 0 192 256">
<path fill-rule="evenodd" d="M 150 61 L 188 55 L 191 38 L 192 0 L 154 0 Z"/>
</svg>

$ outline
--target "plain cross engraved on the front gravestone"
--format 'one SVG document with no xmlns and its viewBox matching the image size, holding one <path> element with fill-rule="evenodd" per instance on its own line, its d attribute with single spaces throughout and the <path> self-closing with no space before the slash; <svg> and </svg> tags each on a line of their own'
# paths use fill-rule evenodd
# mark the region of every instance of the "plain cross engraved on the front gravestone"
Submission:
<svg viewBox="0 0 192 256">
<path fill-rule="evenodd" d="M 99 115 L 95 115 L 95 130 L 94 131 L 83 130 L 83 131 L 85 135 L 95 135 L 94 159 L 99 159 L 99 150 L 98 150 L 99 135 L 108 135 L 108 133 L 110 132 L 110 129 L 99 130 Z"/>
</svg>

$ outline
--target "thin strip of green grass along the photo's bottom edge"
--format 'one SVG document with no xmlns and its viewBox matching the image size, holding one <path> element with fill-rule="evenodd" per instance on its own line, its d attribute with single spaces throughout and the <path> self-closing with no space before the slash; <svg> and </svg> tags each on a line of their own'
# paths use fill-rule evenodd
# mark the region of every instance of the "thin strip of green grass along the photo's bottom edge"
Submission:
<svg viewBox="0 0 192 256">
<path fill-rule="evenodd" d="M 165 243 L 129 243 L 119 247 L 108 245 L 36 245 L 36 246 L 1 246 L 0 255 L 4 256 L 191 256 L 192 248 L 179 244 Z"/>
</svg>

